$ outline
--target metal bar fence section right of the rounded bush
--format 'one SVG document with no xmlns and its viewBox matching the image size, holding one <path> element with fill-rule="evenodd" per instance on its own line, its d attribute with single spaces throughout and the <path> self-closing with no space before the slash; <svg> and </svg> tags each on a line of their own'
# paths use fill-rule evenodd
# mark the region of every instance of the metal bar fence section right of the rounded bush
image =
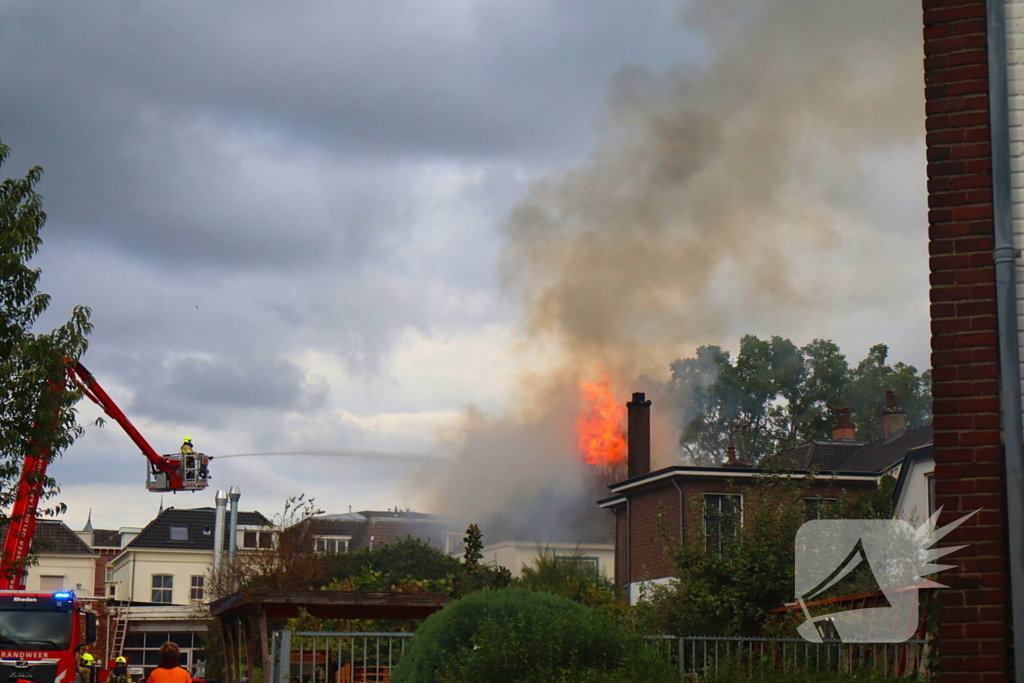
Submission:
<svg viewBox="0 0 1024 683">
<path fill-rule="evenodd" d="M 928 644 L 811 643 L 802 638 L 720 638 L 710 636 L 653 636 L 648 639 L 679 668 L 682 681 L 722 676 L 757 680 L 769 673 L 829 671 L 853 675 L 870 672 L 893 678 L 922 678 L 926 674 Z"/>
</svg>

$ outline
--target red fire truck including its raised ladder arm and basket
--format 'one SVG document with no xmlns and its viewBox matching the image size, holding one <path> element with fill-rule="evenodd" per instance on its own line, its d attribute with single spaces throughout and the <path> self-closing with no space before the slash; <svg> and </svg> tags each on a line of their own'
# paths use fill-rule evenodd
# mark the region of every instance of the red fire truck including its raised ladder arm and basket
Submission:
<svg viewBox="0 0 1024 683">
<path fill-rule="evenodd" d="M 66 375 L 145 456 L 148 490 L 176 494 L 207 487 L 211 458 L 201 453 L 158 455 L 82 364 L 69 360 Z M 0 556 L 0 683 L 74 683 L 79 651 L 96 639 L 96 615 L 83 610 L 74 593 L 25 591 L 48 456 L 25 459 Z"/>
</svg>

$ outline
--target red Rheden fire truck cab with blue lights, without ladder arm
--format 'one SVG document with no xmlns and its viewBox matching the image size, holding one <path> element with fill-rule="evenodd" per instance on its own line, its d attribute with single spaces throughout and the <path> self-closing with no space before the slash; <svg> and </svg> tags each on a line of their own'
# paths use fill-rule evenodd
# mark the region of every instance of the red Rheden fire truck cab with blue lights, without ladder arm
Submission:
<svg viewBox="0 0 1024 683">
<path fill-rule="evenodd" d="M 74 593 L 0 591 L 0 683 L 74 683 L 96 615 Z"/>
</svg>

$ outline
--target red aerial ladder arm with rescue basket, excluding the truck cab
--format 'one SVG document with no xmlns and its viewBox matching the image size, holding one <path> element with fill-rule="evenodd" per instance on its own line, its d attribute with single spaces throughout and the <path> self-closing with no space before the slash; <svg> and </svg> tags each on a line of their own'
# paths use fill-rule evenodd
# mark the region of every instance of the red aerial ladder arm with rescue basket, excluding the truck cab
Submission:
<svg viewBox="0 0 1024 683">
<path fill-rule="evenodd" d="M 135 425 L 121 412 L 114 399 L 99 386 L 92 373 L 77 360 L 69 360 L 66 371 L 68 379 L 81 389 L 87 398 L 103 409 L 111 419 L 121 425 L 150 461 L 145 479 L 147 489 L 157 493 L 177 493 L 203 490 L 207 487 L 209 457 L 201 453 L 158 455 Z M 3 555 L 0 556 L 0 590 L 25 590 L 25 563 L 36 531 L 36 511 L 43 493 L 48 455 L 46 453 L 30 455 L 22 467 L 17 498 L 11 509 Z"/>
</svg>

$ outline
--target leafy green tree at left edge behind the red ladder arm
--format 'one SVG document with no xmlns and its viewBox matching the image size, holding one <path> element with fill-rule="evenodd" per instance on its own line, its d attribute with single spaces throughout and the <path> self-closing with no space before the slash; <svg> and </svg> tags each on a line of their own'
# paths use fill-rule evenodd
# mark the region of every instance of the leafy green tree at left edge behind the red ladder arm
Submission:
<svg viewBox="0 0 1024 683">
<path fill-rule="evenodd" d="M 0 166 L 9 154 L 0 142 Z M 82 434 L 74 408 L 80 392 L 66 385 L 65 369 L 68 359 L 85 352 L 90 311 L 76 306 L 60 327 L 36 332 L 50 304 L 49 295 L 38 290 L 40 270 L 29 265 L 46 222 L 42 198 L 34 189 L 42 174 L 36 166 L 24 178 L 0 182 L 0 508 L 13 504 L 26 458 L 51 462 Z M 50 477 L 33 483 L 41 486 L 41 500 L 59 490 Z"/>
</svg>

